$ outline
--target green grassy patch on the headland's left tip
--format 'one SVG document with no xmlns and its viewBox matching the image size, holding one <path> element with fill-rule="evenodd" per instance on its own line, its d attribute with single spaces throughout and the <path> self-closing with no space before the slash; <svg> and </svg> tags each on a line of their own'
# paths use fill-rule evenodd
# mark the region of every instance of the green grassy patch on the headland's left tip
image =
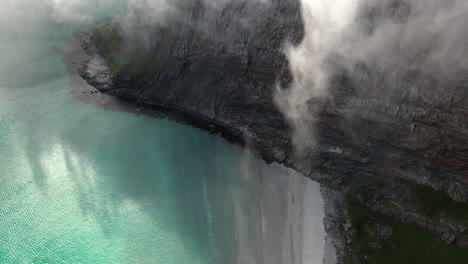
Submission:
<svg viewBox="0 0 468 264">
<path fill-rule="evenodd" d="M 137 37 L 124 38 L 119 28 L 111 24 L 98 26 L 94 30 L 93 40 L 114 76 L 137 78 L 163 70 L 166 73 L 178 70 L 174 60 L 156 51 L 146 50 Z"/>
</svg>

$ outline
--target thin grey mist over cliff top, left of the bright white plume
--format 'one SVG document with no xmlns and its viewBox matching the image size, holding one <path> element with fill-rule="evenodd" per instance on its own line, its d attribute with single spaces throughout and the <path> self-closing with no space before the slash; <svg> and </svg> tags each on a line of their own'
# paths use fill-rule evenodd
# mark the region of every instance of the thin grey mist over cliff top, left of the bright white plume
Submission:
<svg viewBox="0 0 468 264">
<path fill-rule="evenodd" d="M 155 48 L 161 42 L 156 34 L 161 28 L 175 30 L 195 30 L 209 39 L 219 42 L 233 42 L 236 32 L 249 30 L 251 20 L 259 19 L 256 12 L 267 8 L 270 0 L 131 0 L 126 12 L 114 19 L 122 30 L 129 45 L 143 44 L 146 49 Z M 229 31 L 219 33 L 217 23 L 223 12 L 242 8 L 242 15 L 229 23 Z M 159 33 L 162 33 L 159 31 Z M 184 32 L 172 32 L 183 35 Z M 165 33 L 162 33 L 165 34 Z"/>
</svg>

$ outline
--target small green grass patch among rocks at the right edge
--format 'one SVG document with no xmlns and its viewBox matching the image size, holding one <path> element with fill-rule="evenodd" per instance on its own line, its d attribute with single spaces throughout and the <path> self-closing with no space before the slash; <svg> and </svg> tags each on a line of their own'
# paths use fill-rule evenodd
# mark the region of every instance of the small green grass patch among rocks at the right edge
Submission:
<svg viewBox="0 0 468 264">
<path fill-rule="evenodd" d="M 468 203 L 454 201 L 447 193 L 436 191 L 429 186 L 408 183 L 417 197 L 421 212 L 431 219 L 439 217 L 468 226 Z"/>
</svg>

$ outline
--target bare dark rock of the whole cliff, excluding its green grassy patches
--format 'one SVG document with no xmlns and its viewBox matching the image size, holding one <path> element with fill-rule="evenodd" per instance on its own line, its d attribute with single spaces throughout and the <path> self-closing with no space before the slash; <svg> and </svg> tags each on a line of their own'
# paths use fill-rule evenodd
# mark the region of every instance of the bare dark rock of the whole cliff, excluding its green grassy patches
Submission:
<svg viewBox="0 0 468 264">
<path fill-rule="evenodd" d="M 157 50 L 155 61 L 169 60 L 172 66 L 150 76 L 111 74 L 92 34 L 83 34 L 90 60 L 80 75 L 103 93 L 222 126 L 267 161 L 293 166 L 341 193 L 370 193 L 369 208 L 468 246 L 460 228 L 402 213 L 416 209 L 410 195 L 396 195 L 407 193 L 397 182 L 405 179 L 468 200 L 467 81 L 435 86 L 431 76 L 418 71 L 398 79 L 366 67 L 354 75 L 342 71 L 333 77 L 319 116 L 318 148 L 295 160 L 273 94 L 276 84 L 291 80 L 283 47 L 303 37 L 300 3 L 248 2 L 209 9 L 193 1 L 181 8 L 180 17 L 152 27 L 148 39 Z"/>
</svg>

